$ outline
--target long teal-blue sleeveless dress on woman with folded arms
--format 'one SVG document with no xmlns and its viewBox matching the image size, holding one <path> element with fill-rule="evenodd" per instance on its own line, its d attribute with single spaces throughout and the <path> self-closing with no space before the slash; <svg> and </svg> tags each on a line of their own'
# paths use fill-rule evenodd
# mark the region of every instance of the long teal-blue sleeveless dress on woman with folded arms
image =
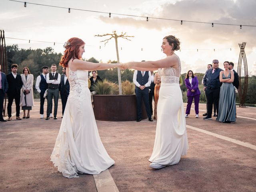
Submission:
<svg viewBox="0 0 256 192">
<path fill-rule="evenodd" d="M 223 79 L 231 78 L 231 73 L 225 77 L 222 74 Z M 235 122 L 236 121 L 236 92 L 232 83 L 223 82 L 220 87 L 220 99 L 219 99 L 219 122 Z"/>
</svg>

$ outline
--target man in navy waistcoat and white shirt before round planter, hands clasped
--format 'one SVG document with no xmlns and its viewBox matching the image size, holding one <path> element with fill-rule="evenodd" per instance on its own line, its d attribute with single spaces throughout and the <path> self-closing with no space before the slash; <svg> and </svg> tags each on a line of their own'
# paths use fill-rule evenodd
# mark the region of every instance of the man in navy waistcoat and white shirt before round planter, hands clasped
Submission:
<svg viewBox="0 0 256 192">
<path fill-rule="evenodd" d="M 135 84 L 135 94 L 137 97 L 137 122 L 141 121 L 142 112 L 141 112 L 141 103 L 142 99 L 146 107 L 146 112 L 148 115 L 148 120 L 153 121 L 151 118 L 148 92 L 149 86 L 151 84 L 151 73 L 150 71 L 134 71 L 133 74 L 133 83 Z"/>
</svg>

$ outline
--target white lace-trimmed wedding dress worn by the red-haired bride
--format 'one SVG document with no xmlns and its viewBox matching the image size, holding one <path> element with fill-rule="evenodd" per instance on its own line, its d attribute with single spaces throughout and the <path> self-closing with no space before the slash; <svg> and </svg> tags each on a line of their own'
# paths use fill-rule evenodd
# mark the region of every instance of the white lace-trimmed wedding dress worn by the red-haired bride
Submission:
<svg viewBox="0 0 256 192">
<path fill-rule="evenodd" d="M 51 161 L 67 178 L 78 177 L 78 173 L 99 174 L 114 160 L 100 140 L 88 89 L 88 71 L 69 70 L 68 80 L 70 93 Z"/>
</svg>

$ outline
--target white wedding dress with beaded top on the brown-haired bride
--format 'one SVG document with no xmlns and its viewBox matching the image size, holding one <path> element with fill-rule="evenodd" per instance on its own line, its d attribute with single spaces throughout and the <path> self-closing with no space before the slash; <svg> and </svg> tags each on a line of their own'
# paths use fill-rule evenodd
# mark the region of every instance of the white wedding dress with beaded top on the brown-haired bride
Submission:
<svg viewBox="0 0 256 192">
<path fill-rule="evenodd" d="M 188 150 L 186 120 L 179 85 L 180 58 L 178 61 L 178 68 L 158 70 L 161 87 L 157 104 L 156 138 L 149 161 L 165 166 L 177 164 Z"/>
</svg>

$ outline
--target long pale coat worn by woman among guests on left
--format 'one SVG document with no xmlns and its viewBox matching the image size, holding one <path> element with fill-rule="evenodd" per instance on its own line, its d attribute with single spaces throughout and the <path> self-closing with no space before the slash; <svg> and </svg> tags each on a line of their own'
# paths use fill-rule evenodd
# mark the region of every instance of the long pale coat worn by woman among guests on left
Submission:
<svg viewBox="0 0 256 192">
<path fill-rule="evenodd" d="M 32 74 L 28 74 L 27 80 L 25 74 L 21 74 L 22 80 L 22 88 L 20 91 L 20 106 L 34 106 L 34 96 L 33 96 L 33 83 L 34 83 L 34 76 Z M 30 93 L 26 94 L 26 101 L 24 90 L 29 90 Z"/>
</svg>

